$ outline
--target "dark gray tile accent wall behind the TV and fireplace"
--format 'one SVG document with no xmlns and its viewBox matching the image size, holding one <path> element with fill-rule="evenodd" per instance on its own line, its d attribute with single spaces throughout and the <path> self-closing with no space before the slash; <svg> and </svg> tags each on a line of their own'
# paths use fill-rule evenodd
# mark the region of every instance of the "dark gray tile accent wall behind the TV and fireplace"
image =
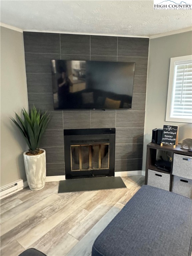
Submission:
<svg viewBox="0 0 192 256">
<path fill-rule="evenodd" d="M 115 171 L 142 168 L 149 39 L 24 32 L 29 109 L 51 112 L 42 138 L 47 176 L 64 175 L 63 129 L 116 128 Z M 51 59 L 135 62 L 131 110 L 54 111 Z"/>
</svg>

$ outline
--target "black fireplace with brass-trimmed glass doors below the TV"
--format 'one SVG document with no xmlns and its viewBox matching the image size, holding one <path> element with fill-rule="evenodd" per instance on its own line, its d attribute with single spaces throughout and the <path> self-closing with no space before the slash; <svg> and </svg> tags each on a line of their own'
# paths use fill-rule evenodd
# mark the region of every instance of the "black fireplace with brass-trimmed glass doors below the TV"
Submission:
<svg viewBox="0 0 192 256">
<path fill-rule="evenodd" d="M 114 176 L 115 128 L 64 130 L 65 177 Z"/>
</svg>

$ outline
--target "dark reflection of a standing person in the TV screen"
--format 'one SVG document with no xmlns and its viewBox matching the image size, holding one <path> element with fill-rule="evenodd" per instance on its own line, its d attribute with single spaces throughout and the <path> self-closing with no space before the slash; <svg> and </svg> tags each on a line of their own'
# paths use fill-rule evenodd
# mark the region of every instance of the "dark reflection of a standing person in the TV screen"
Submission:
<svg viewBox="0 0 192 256">
<path fill-rule="evenodd" d="M 73 86 L 71 80 L 67 77 L 66 71 L 61 70 L 61 77 L 57 80 L 58 85 L 58 103 L 60 109 L 65 109 L 69 106 L 70 87 Z"/>
</svg>

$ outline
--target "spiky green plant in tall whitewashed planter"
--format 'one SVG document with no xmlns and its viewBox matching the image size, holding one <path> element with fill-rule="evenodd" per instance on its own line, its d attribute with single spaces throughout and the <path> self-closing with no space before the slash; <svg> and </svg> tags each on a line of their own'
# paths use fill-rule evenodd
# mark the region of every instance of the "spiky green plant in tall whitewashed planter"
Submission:
<svg viewBox="0 0 192 256">
<path fill-rule="evenodd" d="M 15 113 L 19 122 L 14 118 L 11 120 L 16 124 L 22 133 L 29 150 L 23 153 L 27 182 L 31 190 L 40 190 L 45 186 L 46 178 L 46 158 L 45 150 L 39 148 L 40 139 L 50 120 L 47 111 L 37 112 L 35 106 L 28 114 L 25 109 L 22 110 L 23 120 Z"/>
</svg>

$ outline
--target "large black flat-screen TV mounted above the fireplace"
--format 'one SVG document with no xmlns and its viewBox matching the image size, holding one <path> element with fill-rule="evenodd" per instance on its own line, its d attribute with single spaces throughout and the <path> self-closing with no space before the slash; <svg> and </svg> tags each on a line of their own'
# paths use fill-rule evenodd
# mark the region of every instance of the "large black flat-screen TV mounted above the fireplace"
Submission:
<svg viewBox="0 0 192 256">
<path fill-rule="evenodd" d="M 131 109 L 134 62 L 51 60 L 54 109 Z"/>
</svg>

